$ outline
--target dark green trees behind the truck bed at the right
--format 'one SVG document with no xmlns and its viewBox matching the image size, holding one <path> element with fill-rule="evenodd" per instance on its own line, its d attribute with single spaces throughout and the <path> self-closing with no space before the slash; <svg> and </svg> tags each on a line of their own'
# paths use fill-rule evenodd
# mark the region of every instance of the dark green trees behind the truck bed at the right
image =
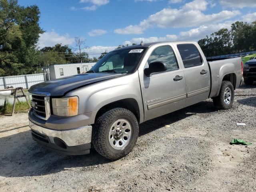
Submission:
<svg viewBox="0 0 256 192">
<path fill-rule="evenodd" d="M 198 44 L 206 56 L 226 55 L 256 50 L 256 21 L 237 21 L 231 29 L 222 28 L 200 39 Z"/>
</svg>

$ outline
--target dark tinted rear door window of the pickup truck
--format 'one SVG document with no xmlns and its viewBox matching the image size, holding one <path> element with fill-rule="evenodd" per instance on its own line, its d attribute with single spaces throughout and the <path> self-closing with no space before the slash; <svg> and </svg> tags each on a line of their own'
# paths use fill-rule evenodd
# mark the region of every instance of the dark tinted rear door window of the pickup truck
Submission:
<svg viewBox="0 0 256 192">
<path fill-rule="evenodd" d="M 177 48 L 180 52 L 184 68 L 202 65 L 202 58 L 194 44 L 179 44 Z"/>
</svg>

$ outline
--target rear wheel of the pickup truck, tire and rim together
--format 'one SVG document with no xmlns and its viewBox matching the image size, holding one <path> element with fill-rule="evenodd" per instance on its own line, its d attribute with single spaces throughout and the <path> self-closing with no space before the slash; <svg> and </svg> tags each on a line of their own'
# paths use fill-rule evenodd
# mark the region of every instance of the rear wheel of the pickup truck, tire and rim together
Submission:
<svg viewBox="0 0 256 192">
<path fill-rule="evenodd" d="M 229 109 L 234 102 L 234 87 L 230 81 L 222 81 L 220 93 L 212 98 L 217 109 Z"/>
</svg>

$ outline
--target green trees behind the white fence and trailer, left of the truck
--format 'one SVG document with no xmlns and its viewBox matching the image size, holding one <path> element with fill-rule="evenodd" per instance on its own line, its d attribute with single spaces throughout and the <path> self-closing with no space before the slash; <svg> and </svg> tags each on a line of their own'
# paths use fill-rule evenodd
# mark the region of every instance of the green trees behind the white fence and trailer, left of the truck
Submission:
<svg viewBox="0 0 256 192">
<path fill-rule="evenodd" d="M 84 40 L 77 37 L 77 48 L 56 44 L 37 47 L 40 34 L 38 6 L 20 6 L 18 0 L 0 0 L 0 76 L 42 72 L 50 64 L 97 62 L 84 50 Z M 78 53 L 76 52 L 78 51 Z"/>
</svg>

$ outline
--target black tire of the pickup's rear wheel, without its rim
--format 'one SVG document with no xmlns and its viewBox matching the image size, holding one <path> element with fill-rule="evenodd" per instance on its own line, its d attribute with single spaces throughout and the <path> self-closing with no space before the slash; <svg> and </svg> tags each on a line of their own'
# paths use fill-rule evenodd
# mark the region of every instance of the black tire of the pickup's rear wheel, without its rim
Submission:
<svg viewBox="0 0 256 192">
<path fill-rule="evenodd" d="M 225 90 L 230 88 L 231 90 L 231 100 L 229 104 L 226 104 L 224 100 Z M 222 81 L 220 92 L 217 97 L 212 98 L 213 104 L 217 109 L 229 109 L 234 102 L 234 87 L 230 81 Z"/>
</svg>

